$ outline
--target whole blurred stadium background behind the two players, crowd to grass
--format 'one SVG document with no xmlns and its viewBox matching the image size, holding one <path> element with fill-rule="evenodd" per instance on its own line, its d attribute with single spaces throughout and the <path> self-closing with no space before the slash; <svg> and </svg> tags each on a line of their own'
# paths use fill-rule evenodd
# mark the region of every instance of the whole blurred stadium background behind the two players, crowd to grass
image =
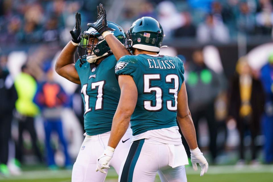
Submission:
<svg viewBox="0 0 273 182">
<path fill-rule="evenodd" d="M 202 178 L 188 166 L 188 181 L 272 181 L 272 0 L 0 0 L 0 181 L 70 181 L 83 141 L 82 98 L 53 70 L 75 12 L 84 31 L 99 3 L 125 32 L 142 16 L 156 18 L 170 46 L 160 54 L 184 61 L 210 164 Z M 54 109 L 39 105 L 40 85 L 51 81 L 63 88 Z M 49 124 L 52 115 L 60 119 Z M 106 181 L 117 181 L 115 171 Z"/>
</svg>

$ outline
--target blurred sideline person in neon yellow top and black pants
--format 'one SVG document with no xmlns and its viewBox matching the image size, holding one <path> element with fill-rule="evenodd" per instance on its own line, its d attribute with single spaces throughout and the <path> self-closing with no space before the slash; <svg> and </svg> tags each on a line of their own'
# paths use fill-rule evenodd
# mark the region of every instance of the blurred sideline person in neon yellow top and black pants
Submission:
<svg viewBox="0 0 273 182">
<path fill-rule="evenodd" d="M 33 98 L 37 90 L 37 83 L 32 77 L 28 66 L 24 64 L 21 73 L 15 78 L 15 88 L 18 93 L 18 99 L 15 103 L 15 117 L 18 120 L 18 143 L 16 146 L 15 158 L 22 162 L 23 132 L 27 130 L 31 137 L 32 148 L 38 160 L 43 161 L 42 154 L 37 146 L 37 135 L 34 126 L 34 117 L 39 113 L 38 106 L 33 103 Z"/>
</svg>

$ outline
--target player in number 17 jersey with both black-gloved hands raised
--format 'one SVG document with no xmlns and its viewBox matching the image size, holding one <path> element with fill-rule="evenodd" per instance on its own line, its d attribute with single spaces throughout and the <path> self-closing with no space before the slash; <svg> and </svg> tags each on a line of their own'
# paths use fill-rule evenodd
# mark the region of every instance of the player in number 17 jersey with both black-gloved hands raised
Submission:
<svg viewBox="0 0 273 182">
<path fill-rule="evenodd" d="M 102 152 L 113 150 L 107 147 L 107 142 L 120 97 L 115 65 L 129 51 L 123 45 L 125 32 L 119 25 L 106 21 L 102 10 L 101 5 L 98 7 L 98 21 L 94 24 L 96 29 L 89 27 L 84 33 L 81 31 L 80 13 L 76 13 L 76 26 L 70 31 L 72 40 L 62 50 L 55 65 L 59 75 L 82 86 L 86 133 L 73 165 L 72 182 L 103 182 L 107 169 L 97 169 L 102 173 L 96 173 L 96 160 Z M 108 46 L 106 40 L 114 46 Z M 74 62 L 77 48 L 79 59 Z M 129 150 L 131 138 L 132 131 L 128 128 L 111 162 L 117 173 Z"/>
</svg>

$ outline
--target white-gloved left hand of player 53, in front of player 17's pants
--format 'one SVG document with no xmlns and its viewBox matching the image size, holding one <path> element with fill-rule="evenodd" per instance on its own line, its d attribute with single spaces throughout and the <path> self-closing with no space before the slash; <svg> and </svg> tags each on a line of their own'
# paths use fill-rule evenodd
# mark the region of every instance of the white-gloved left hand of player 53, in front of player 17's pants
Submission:
<svg viewBox="0 0 273 182">
<path fill-rule="evenodd" d="M 96 172 L 100 171 L 104 174 L 106 174 L 106 171 L 104 171 L 103 169 L 109 169 L 109 165 L 110 165 L 110 161 L 114 155 L 114 151 L 115 149 L 107 146 L 106 149 L 104 150 L 103 154 L 98 158 L 97 160 L 97 168 L 96 168 Z"/>
</svg>

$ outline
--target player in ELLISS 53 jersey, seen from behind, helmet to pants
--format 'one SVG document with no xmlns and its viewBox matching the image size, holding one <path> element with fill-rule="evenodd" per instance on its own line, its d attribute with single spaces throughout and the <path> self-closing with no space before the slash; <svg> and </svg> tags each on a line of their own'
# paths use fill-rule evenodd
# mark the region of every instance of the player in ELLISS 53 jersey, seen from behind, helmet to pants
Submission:
<svg viewBox="0 0 273 182">
<path fill-rule="evenodd" d="M 136 20 L 127 32 L 127 47 L 133 55 L 119 59 L 121 97 L 113 118 L 108 146 L 116 148 L 131 120 L 133 139 L 119 173 L 120 182 L 187 181 L 187 154 L 178 132 L 176 118 L 191 149 L 191 162 L 200 176 L 208 163 L 199 150 L 187 103 L 183 62 L 173 56 L 158 55 L 164 34 L 151 17 Z M 109 43 L 111 46 L 111 43 Z M 98 166 L 108 168 L 111 156 L 102 154 Z"/>
</svg>

